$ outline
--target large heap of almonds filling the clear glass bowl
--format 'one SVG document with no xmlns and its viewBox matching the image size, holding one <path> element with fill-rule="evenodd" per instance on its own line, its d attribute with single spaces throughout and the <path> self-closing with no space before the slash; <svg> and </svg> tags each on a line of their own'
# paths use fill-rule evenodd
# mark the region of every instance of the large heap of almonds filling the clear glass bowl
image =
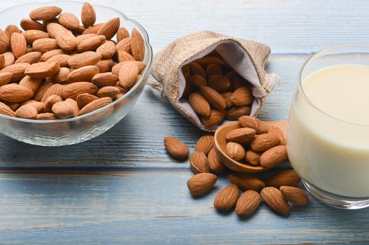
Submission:
<svg viewBox="0 0 369 245">
<path fill-rule="evenodd" d="M 129 34 L 119 18 L 96 24 L 89 3 L 80 20 L 44 6 L 20 20 L 23 31 L 17 25 L 0 29 L 0 113 L 73 118 L 112 103 L 140 80 L 145 69 L 140 32 Z"/>
</svg>

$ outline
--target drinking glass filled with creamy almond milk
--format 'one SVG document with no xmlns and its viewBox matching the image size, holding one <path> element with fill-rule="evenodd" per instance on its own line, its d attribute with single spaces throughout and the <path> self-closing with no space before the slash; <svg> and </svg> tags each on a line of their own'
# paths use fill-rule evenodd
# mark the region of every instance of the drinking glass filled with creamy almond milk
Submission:
<svg viewBox="0 0 369 245">
<path fill-rule="evenodd" d="M 307 190 L 342 209 L 369 207 L 369 45 L 338 45 L 301 69 L 287 151 Z"/>
</svg>

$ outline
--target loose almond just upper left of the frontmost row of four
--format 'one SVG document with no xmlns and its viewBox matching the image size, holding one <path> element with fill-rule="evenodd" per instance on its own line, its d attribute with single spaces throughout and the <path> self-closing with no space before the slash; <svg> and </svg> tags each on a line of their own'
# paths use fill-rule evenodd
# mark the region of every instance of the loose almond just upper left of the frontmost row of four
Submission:
<svg viewBox="0 0 369 245">
<path fill-rule="evenodd" d="M 210 173 L 201 173 L 194 175 L 189 181 L 187 181 L 187 187 L 189 193 L 194 196 L 203 195 L 217 182 L 217 176 Z"/>
</svg>

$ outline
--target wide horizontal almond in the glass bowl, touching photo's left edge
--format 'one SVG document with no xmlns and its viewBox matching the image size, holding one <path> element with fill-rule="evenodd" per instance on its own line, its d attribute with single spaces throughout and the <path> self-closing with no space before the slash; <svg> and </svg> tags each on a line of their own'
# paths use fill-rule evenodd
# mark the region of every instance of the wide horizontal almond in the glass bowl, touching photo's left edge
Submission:
<svg viewBox="0 0 369 245">
<path fill-rule="evenodd" d="M 0 87 L 0 99 L 6 102 L 24 102 L 34 96 L 28 87 L 16 83 L 6 84 Z"/>
</svg>

